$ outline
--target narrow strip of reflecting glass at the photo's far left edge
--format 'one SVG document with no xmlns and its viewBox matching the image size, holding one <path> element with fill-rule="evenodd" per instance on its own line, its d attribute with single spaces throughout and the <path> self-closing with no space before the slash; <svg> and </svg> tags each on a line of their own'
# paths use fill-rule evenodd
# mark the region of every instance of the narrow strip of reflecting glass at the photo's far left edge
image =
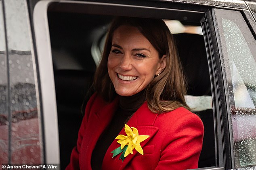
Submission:
<svg viewBox="0 0 256 170">
<path fill-rule="evenodd" d="M 2 12 L 2 0 L 0 0 L 0 162 L 8 163 L 8 80 Z"/>
</svg>

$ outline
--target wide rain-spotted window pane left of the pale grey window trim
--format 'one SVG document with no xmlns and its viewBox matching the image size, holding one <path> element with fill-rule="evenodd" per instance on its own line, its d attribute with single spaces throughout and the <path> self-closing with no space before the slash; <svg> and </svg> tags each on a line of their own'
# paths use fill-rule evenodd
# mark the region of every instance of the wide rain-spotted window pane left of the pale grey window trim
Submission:
<svg viewBox="0 0 256 170">
<path fill-rule="evenodd" d="M 10 163 L 42 163 L 38 88 L 26 0 L 4 1 L 10 76 Z"/>
</svg>

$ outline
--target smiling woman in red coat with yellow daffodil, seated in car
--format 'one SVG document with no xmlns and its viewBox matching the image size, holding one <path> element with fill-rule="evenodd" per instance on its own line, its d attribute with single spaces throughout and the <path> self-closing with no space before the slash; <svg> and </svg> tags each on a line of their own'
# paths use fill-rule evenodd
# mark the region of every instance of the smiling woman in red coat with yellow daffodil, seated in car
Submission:
<svg viewBox="0 0 256 170">
<path fill-rule="evenodd" d="M 163 20 L 115 18 L 94 88 L 67 169 L 197 168 L 204 127 Z"/>
</svg>

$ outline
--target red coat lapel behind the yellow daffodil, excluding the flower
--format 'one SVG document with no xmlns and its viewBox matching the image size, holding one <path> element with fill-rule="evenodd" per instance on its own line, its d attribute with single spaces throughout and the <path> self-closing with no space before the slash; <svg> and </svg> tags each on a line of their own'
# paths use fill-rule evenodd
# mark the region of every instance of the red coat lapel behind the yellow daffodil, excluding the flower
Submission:
<svg viewBox="0 0 256 170">
<path fill-rule="evenodd" d="M 147 107 L 147 102 L 145 102 L 132 116 L 132 118 L 128 121 L 127 125 L 130 127 L 135 127 L 138 129 L 139 135 L 149 135 L 149 138 L 147 138 L 145 141 L 142 141 L 141 147 L 143 148 L 147 142 L 155 135 L 155 133 L 158 131 L 158 127 L 154 127 L 153 124 L 155 122 L 155 119 L 157 118 L 158 114 L 154 114 L 151 111 L 149 111 Z M 119 133 L 119 135 L 126 135 L 124 128 Z M 121 159 L 119 159 L 120 154 L 112 158 L 113 154 L 111 153 L 116 148 L 120 147 L 120 144 L 117 143 L 117 139 L 111 143 L 109 146 L 104 160 L 102 164 L 102 169 L 111 169 L 111 170 L 122 170 L 124 169 L 127 164 L 136 156 L 138 153 L 135 149 L 133 150 L 133 154 L 129 154 L 124 159 L 124 162 L 122 162 Z M 111 167 L 111 168 L 110 168 Z"/>
</svg>

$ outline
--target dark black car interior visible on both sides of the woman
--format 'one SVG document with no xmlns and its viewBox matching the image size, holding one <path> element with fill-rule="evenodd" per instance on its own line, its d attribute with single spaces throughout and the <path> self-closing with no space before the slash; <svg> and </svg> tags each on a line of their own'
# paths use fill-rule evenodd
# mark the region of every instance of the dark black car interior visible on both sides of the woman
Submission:
<svg viewBox="0 0 256 170">
<path fill-rule="evenodd" d="M 48 10 L 48 25 L 55 76 L 61 169 L 69 163 L 107 27 L 113 16 Z M 58 22 L 56 22 L 58 21 Z M 181 22 L 184 26 L 201 26 Z M 173 34 L 188 82 L 187 93 L 211 96 L 211 80 L 204 36 L 193 33 Z M 196 112 L 204 123 L 203 149 L 199 168 L 216 166 L 214 113 Z"/>
</svg>

